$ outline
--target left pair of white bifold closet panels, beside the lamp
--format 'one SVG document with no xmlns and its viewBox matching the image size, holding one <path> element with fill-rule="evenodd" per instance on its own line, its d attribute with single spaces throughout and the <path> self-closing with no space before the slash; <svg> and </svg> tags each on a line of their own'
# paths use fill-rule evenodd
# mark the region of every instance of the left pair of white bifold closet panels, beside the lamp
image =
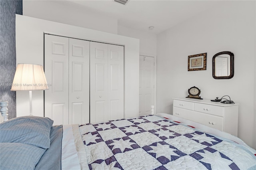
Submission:
<svg viewBox="0 0 256 170">
<path fill-rule="evenodd" d="M 90 43 L 45 35 L 44 116 L 54 125 L 89 123 Z"/>
</svg>

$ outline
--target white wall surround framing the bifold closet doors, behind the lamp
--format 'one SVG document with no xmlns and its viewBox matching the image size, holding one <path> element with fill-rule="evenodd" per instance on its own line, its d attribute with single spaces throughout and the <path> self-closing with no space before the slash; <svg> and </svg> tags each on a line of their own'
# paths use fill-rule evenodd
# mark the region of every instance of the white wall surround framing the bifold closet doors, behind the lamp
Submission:
<svg viewBox="0 0 256 170">
<path fill-rule="evenodd" d="M 138 39 L 16 15 L 16 63 L 44 64 L 44 32 L 124 45 L 124 112 L 126 118 L 138 116 L 140 43 Z M 43 92 L 32 91 L 32 99 L 33 114 L 43 116 Z M 28 91 L 16 92 L 16 108 L 17 117 L 29 114 Z"/>
</svg>

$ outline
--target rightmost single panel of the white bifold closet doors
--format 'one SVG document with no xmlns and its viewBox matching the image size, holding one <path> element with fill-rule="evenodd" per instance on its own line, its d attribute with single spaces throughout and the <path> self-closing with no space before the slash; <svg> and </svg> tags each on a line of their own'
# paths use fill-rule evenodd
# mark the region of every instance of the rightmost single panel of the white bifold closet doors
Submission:
<svg viewBox="0 0 256 170">
<path fill-rule="evenodd" d="M 108 44 L 109 120 L 124 119 L 124 46 Z"/>
</svg>

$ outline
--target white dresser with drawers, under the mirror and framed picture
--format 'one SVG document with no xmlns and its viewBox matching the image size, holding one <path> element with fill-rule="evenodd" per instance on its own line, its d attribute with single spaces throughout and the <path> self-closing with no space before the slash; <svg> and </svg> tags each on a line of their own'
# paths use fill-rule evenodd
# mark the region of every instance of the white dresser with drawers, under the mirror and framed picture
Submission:
<svg viewBox="0 0 256 170">
<path fill-rule="evenodd" d="M 210 101 L 210 99 L 173 98 L 173 115 L 237 136 L 237 103 L 225 104 Z"/>
</svg>

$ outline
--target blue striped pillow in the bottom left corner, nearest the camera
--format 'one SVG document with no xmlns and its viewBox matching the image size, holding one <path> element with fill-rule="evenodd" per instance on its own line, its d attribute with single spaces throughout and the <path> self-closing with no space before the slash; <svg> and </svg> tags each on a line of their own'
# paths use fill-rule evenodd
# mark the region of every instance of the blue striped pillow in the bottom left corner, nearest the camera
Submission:
<svg viewBox="0 0 256 170">
<path fill-rule="evenodd" d="M 0 143 L 1 170 L 34 170 L 44 148 L 22 143 Z"/>
</svg>

